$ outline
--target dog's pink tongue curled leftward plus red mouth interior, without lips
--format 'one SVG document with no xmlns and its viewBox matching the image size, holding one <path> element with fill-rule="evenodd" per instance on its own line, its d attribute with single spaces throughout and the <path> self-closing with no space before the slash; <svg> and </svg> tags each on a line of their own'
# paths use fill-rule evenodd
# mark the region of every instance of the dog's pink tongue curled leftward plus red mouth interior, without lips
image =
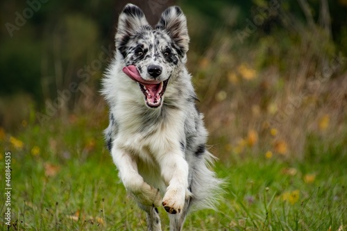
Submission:
<svg viewBox="0 0 347 231">
<path fill-rule="evenodd" d="M 160 102 L 160 95 L 157 96 L 157 94 L 162 90 L 162 83 L 160 83 L 160 81 L 144 80 L 139 75 L 139 71 L 137 71 L 137 68 L 134 65 L 123 67 L 123 72 L 146 87 L 146 99 L 148 103 L 156 105 Z"/>
</svg>

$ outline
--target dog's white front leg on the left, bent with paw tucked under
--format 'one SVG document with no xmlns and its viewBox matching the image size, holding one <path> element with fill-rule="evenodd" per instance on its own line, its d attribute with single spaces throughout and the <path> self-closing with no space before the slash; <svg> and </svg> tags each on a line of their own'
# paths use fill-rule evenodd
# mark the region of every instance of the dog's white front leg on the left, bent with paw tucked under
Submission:
<svg viewBox="0 0 347 231">
<path fill-rule="evenodd" d="M 144 182 L 144 178 L 137 171 L 137 163 L 133 157 L 114 146 L 112 148 L 112 158 L 119 170 L 119 178 L 124 187 L 135 197 L 138 203 L 148 206 L 160 206 L 161 198 L 158 189 Z"/>
</svg>

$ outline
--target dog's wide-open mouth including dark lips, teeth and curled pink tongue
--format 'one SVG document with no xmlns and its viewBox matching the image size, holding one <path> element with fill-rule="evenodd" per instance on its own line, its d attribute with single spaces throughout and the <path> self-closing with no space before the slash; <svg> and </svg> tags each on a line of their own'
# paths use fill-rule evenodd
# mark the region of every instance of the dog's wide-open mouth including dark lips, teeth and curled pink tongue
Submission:
<svg viewBox="0 0 347 231">
<path fill-rule="evenodd" d="M 150 108 L 158 108 L 162 104 L 162 95 L 167 88 L 169 78 L 162 82 L 158 80 L 144 80 L 134 65 L 123 68 L 124 73 L 139 84 L 144 94 L 144 100 Z"/>
</svg>

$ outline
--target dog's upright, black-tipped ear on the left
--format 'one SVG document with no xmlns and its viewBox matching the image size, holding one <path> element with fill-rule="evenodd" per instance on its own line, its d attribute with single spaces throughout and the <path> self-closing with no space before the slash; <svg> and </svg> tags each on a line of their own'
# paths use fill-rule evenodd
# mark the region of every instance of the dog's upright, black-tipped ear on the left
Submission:
<svg viewBox="0 0 347 231">
<path fill-rule="evenodd" d="M 137 31 L 141 31 L 143 28 L 148 27 L 151 28 L 146 17 L 144 17 L 144 12 L 131 3 L 126 4 L 119 15 L 115 37 L 116 48 L 121 51 L 121 54 L 124 57 L 126 55 L 126 44 L 130 40 L 130 36 L 134 35 Z"/>
</svg>

